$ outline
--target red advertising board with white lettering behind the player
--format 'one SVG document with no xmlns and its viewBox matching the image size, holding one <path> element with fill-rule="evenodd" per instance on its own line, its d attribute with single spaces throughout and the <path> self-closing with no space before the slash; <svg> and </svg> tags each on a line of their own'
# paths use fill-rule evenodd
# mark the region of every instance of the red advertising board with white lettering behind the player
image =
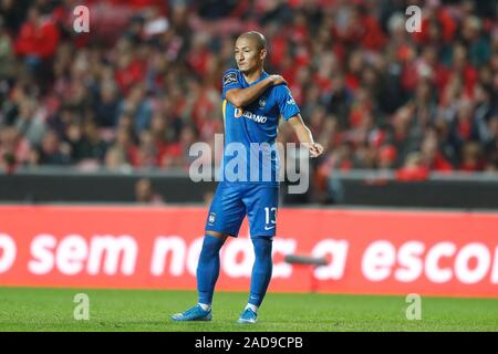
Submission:
<svg viewBox="0 0 498 354">
<path fill-rule="evenodd" d="M 205 208 L 0 207 L 0 285 L 195 289 Z M 287 254 L 326 259 L 289 264 Z M 217 290 L 248 291 L 247 221 Z M 270 291 L 498 298 L 498 214 L 279 210 Z"/>
</svg>

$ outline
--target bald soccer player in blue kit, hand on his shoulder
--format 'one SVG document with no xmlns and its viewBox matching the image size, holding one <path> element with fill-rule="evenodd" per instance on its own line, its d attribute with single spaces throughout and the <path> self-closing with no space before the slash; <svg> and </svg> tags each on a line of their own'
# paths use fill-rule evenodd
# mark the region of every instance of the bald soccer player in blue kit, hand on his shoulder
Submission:
<svg viewBox="0 0 498 354">
<path fill-rule="evenodd" d="M 222 179 L 209 209 L 197 266 L 198 304 L 172 316 L 174 321 L 210 321 L 219 251 L 227 237 L 237 237 L 248 217 L 255 249 L 249 301 L 238 323 L 255 323 L 272 272 L 272 238 L 277 228 L 279 157 L 276 145 L 280 116 L 291 124 L 311 157 L 323 152 L 304 125 L 287 82 L 263 70 L 266 39 L 259 32 L 241 34 L 235 44 L 238 70 L 222 79 L 225 146 Z M 245 147 L 240 154 L 239 147 Z M 237 148 L 236 148 L 237 147 Z M 237 153 L 235 153 L 237 150 Z M 234 167 L 232 159 L 242 164 Z M 257 163 L 255 163 L 257 162 Z M 241 166 L 242 165 L 242 166 Z M 243 168 L 246 167 L 246 168 Z"/>
</svg>

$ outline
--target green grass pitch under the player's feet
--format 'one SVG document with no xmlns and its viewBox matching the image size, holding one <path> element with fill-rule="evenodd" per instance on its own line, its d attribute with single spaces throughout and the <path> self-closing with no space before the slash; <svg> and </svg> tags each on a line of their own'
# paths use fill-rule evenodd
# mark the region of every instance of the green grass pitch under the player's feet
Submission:
<svg viewBox="0 0 498 354">
<path fill-rule="evenodd" d="M 90 298 L 90 320 L 74 320 L 74 296 Z M 498 299 L 422 298 L 422 320 L 404 296 L 268 293 L 259 322 L 237 324 L 246 293 L 218 292 L 211 322 L 174 323 L 194 291 L 0 288 L 0 331 L 335 332 L 498 331 Z"/>
</svg>

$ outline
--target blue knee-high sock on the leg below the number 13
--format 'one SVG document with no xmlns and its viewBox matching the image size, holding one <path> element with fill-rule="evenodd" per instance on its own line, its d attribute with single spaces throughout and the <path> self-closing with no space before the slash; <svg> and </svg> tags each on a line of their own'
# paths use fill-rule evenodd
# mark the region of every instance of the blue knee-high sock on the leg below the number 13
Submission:
<svg viewBox="0 0 498 354">
<path fill-rule="evenodd" d="M 255 247 L 256 259 L 252 266 L 249 303 L 259 306 L 267 293 L 273 269 L 273 262 L 271 260 L 271 246 L 273 240 L 268 237 L 253 237 L 251 240 Z"/>
</svg>

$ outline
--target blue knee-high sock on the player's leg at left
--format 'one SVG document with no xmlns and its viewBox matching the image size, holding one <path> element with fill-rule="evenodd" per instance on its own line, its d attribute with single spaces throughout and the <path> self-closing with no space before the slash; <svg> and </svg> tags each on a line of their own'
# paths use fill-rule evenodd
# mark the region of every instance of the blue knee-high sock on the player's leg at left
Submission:
<svg viewBox="0 0 498 354">
<path fill-rule="evenodd" d="M 210 304 L 215 284 L 219 275 L 219 250 L 224 246 L 225 239 L 206 235 L 197 263 L 197 292 L 199 303 Z"/>
</svg>

